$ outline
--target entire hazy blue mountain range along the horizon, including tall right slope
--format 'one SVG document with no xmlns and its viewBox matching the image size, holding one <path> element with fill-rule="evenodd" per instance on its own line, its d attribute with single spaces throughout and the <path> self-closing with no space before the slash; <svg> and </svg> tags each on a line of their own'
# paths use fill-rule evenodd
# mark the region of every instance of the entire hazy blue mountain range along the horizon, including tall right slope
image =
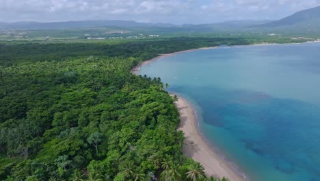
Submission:
<svg viewBox="0 0 320 181">
<path fill-rule="evenodd" d="M 307 29 L 320 32 L 320 7 L 296 12 L 277 21 L 226 21 L 202 25 L 173 25 L 170 23 L 138 23 L 136 21 L 67 21 L 67 22 L 16 22 L 1 23 L 0 29 L 73 29 L 91 27 L 161 27 L 191 29 L 194 31 L 212 31 L 223 29 Z"/>
</svg>

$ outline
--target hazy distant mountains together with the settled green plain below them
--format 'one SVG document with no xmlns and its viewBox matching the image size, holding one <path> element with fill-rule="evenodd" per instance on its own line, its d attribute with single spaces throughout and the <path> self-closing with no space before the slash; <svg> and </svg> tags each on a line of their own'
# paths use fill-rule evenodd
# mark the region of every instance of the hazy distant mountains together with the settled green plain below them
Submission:
<svg viewBox="0 0 320 181">
<path fill-rule="evenodd" d="M 320 37 L 319 16 L 320 7 L 296 12 L 278 21 L 226 21 L 200 25 L 135 21 L 0 22 L 0 40 L 156 40 L 181 36 L 317 40 Z M 270 37 L 275 35 L 277 37 Z"/>
</svg>

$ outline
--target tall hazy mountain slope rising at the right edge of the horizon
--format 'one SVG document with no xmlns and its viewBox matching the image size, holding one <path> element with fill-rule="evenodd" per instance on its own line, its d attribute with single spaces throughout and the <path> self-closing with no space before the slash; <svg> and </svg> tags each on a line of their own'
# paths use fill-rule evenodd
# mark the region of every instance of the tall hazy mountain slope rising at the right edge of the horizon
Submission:
<svg viewBox="0 0 320 181">
<path fill-rule="evenodd" d="M 265 23 L 256 27 L 287 27 L 294 26 L 299 28 L 320 27 L 320 6 L 308 10 L 296 12 L 291 16 L 278 21 Z"/>
</svg>

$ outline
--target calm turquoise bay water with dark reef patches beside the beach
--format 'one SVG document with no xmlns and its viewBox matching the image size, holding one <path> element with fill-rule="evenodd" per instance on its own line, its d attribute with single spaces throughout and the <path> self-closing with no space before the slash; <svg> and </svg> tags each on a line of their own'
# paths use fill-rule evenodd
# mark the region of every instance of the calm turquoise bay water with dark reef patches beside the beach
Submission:
<svg viewBox="0 0 320 181">
<path fill-rule="evenodd" d="M 320 180 L 320 43 L 220 47 L 161 58 L 161 77 L 250 180 Z"/>
</svg>

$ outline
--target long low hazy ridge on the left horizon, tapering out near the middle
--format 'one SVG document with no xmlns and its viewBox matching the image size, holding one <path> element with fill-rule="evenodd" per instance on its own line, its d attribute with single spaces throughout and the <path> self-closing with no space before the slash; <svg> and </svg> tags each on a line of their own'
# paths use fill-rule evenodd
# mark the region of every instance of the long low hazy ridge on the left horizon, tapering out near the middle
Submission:
<svg viewBox="0 0 320 181">
<path fill-rule="evenodd" d="M 66 22 L 16 22 L 0 23 L 1 29 L 73 29 L 88 27 L 170 27 L 167 23 L 137 23 L 135 21 L 66 21 Z"/>
</svg>

